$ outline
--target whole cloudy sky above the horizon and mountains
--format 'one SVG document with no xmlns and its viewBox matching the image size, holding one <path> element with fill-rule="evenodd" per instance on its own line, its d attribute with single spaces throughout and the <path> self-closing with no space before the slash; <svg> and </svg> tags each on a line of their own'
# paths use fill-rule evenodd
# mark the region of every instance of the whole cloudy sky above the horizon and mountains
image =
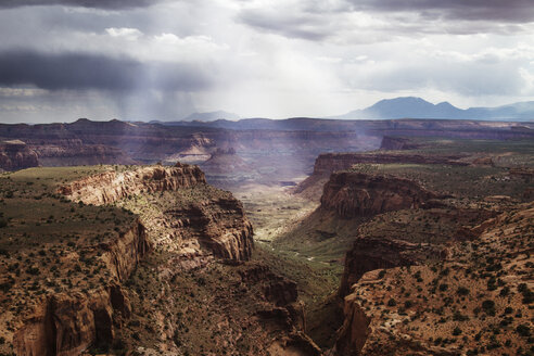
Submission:
<svg viewBox="0 0 534 356">
<path fill-rule="evenodd" d="M 534 100 L 533 0 L 1 0 L 0 123 Z"/>
</svg>

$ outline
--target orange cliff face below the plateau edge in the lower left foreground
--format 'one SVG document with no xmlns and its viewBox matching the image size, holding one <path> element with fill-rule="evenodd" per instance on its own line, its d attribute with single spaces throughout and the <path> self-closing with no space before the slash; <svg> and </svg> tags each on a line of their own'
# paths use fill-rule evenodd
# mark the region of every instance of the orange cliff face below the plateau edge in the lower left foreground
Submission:
<svg viewBox="0 0 534 356">
<path fill-rule="evenodd" d="M 129 230 L 96 249 L 113 278 L 110 284 L 88 293 L 49 294 L 38 301 L 13 335 L 17 355 L 75 356 L 89 345 L 114 340 L 115 326 L 131 310 L 120 282 L 150 251 L 150 244 L 144 227 L 136 220 Z"/>
</svg>

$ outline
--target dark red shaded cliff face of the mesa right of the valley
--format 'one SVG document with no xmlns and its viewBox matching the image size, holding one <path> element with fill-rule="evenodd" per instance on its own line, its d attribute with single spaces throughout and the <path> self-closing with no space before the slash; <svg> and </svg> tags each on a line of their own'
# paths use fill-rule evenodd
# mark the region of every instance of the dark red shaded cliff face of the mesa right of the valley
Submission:
<svg viewBox="0 0 534 356">
<path fill-rule="evenodd" d="M 435 198 L 435 193 L 408 179 L 340 171 L 325 185 L 321 208 L 353 218 L 420 207 Z"/>
</svg>

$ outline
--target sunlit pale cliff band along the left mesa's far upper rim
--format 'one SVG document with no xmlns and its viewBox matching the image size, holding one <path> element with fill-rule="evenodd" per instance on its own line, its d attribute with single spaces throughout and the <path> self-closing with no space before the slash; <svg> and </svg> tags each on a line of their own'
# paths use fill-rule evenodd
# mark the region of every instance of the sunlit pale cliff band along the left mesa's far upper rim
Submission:
<svg viewBox="0 0 534 356">
<path fill-rule="evenodd" d="M 177 190 L 205 183 L 204 173 L 196 166 L 147 166 L 124 173 L 105 171 L 59 189 L 63 195 L 85 204 L 110 204 L 143 192 Z"/>
</svg>

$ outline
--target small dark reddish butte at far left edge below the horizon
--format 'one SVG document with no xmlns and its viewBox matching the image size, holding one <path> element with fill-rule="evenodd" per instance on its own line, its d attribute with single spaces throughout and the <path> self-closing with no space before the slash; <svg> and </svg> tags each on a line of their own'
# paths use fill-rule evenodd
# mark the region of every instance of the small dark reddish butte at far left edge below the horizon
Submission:
<svg viewBox="0 0 534 356">
<path fill-rule="evenodd" d="M 17 170 L 37 167 L 37 153 L 20 140 L 0 142 L 0 169 Z"/>
</svg>

